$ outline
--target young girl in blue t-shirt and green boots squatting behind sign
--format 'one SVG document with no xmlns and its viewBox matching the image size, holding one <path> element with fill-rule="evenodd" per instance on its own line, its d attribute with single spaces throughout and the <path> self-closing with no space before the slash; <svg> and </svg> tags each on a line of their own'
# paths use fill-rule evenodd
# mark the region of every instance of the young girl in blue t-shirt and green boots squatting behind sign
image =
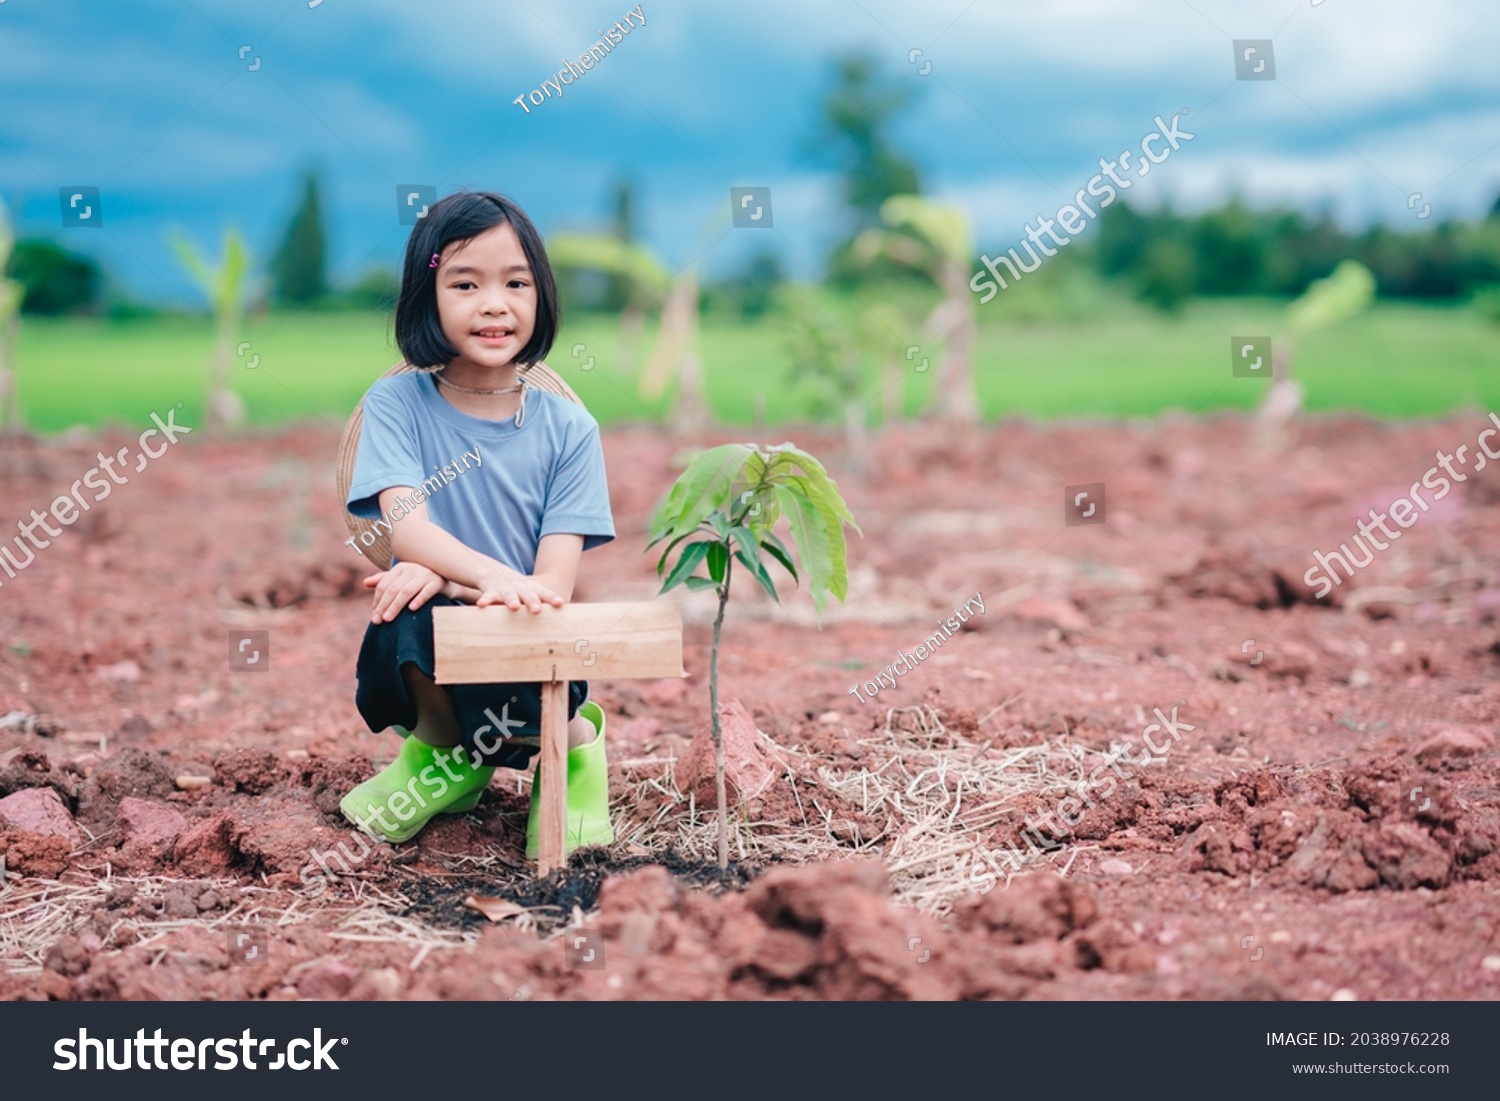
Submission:
<svg viewBox="0 0 1500 1101">
<path fill-rule="evenodd" d="M 490 192 L 434 204 L 406 243 L 396 344 L 424 370 L 364 394 L 348 510 L 388 519 L 393 564 L 366 579 L 375 608 L 356 704 L 400 753 L 339 804 L 372 837 L 405 842 L 472 810 L 496 766 L 537 752 L 538 684 L 432 680 L 432 608 L 504 604 L 540 615 L 573 596 L 579 556 L 615 537 L 598 424 L 530 388 L 558 332 L 556 284 L 531 219 Z M 568 849 L 608 844 L 604 712 L 568 686 Z M 537 850 L 532 784 L 526 855 Z"/>
</svg>

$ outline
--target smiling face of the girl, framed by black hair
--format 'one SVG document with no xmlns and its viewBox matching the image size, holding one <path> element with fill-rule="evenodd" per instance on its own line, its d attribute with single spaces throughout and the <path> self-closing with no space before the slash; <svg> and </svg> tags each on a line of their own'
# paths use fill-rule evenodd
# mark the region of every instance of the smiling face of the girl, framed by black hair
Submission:
<svg viewBox="0 0 1500 1101">
<path fill-rule="evenodd" d="M 508 222 L 438 256 L 438 320 L 459 352 L 450 366 L 508 366 L 531 339 L 536 316 L 537 282 Z"/>
</svg>

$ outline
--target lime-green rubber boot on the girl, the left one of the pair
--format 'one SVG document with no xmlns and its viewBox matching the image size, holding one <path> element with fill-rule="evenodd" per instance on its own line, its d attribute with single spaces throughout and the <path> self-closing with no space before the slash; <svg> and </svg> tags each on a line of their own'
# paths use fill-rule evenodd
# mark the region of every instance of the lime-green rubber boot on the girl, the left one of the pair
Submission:
<svg viewBox="0 0 1500 1101">
<path fill-rule="evenodd" d="M 474 766 L 459 746 L 406 736 L 386 768 L 339 802 L 344 818 L 370 837 L 399 844 L 438 814 L 474 810 L 495 770 Z"/>
</svg>

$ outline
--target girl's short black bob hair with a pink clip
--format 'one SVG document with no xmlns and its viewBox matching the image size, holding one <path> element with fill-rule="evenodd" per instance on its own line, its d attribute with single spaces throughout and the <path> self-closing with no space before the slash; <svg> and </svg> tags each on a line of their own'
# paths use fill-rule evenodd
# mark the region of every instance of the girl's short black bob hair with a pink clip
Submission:
<svg viewBox="0 0 1500 1101">
<path fill-rule="evenodd" d="M 537 318 L 526 346 L 516 352 L 516 363 L 537 363 L 552 350 L 562 322 L 556 279 L 542 244 L 542 234 L 525 212 L 504 195 L 489 190 L 460 190 L 432 204 L 406 240 L 406 261 L 400 272 L 400 297 L 396 298 L 396 346 L 414 368 L 441 368 L 458 348 L 442 334 L 438 316 L 438 272 L 432 254 L 441 255 L 453 242 L 466 242 L 486 230 L 506 225 L 516 231 L 526 254 L 537 286 Z"/>
</svg>

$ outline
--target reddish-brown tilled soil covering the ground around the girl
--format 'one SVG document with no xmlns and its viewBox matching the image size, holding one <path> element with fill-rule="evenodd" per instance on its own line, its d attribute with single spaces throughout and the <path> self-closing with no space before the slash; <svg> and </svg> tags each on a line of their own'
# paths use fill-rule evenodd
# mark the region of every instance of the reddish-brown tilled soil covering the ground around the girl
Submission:
<svg viewBox="0 0 1500 1101">
<path fill-rule="evenodd" d="M 1060 858 L 942 918 L 892 902 L 868 855 L 741 870 L 742 891 L 681 866 L 608 874 L 582 928 L 600 969 L 459 904 L 525 882 L 508 777 L 476 814 L 309 878 L 315 849 L 363 852 L 338 801 L 394 747 L 352 705 L 369 566 L 344 546 L 327 430 L 194 440 L 0 574 L 0 916 L 32 880 L 100 884 L 44 968 L 0 960 L 0 998 L 1496 998 L 1500 470 L 1470 472 L 1330 603 L 1302 582 L 1312 550 L 1480 428 L 1320 422 L 1276 460 L 1238 420 L 890 432 L 864 482 L 840 476 L 864 530 L 844 606 L 819 632 L 804 596 L 778 612 L 741 586 L 729 612 L 722 687 L 780 766 L 874 766 L 861 740 L 914 704 L 986 756 L 1048 741 L 1086 771 L 1112 742 L 1146 753 L 1156 708 L 1191 729 L 1096 792 Z M 604 446 L 620 538 L 585 556 L 574 598 L 648 598 L 644 526 L 682 442 Z M 48 507 L 100 447 L 22 446 L 4 514 Z M 1064 486 L 1100 480 L 1108 524 L 1065 528 Z M 897 687 L 849 694 L 976 592 L 986 612 Z M 711 603 L 687 603 L 686 684 L 594 684 L 616 790 L 622 762 L 684 754 L 704 789 L 688 750 Z M 230 669 L 240 628 L 270 632 L 267 672 Z M 802 786 L 762 789 L 774 747 L 741 742 L 754 820 L 796 820 Z M 850 852 L 888 826 L 819 798 Z M 616 830 L 662 806 L 616 807 Z M 1056 806 L 1018 795 L 984 844 L 1024 852 L 1026 819 Z M 590 874 L 639 856 L 621 843 Z M 472 936 L 342 939 L 368 891 Z M 292 916 L 260 926 L 264 963 L 234 966 L 226 928 L 255 908 Z"/>
</svg>

